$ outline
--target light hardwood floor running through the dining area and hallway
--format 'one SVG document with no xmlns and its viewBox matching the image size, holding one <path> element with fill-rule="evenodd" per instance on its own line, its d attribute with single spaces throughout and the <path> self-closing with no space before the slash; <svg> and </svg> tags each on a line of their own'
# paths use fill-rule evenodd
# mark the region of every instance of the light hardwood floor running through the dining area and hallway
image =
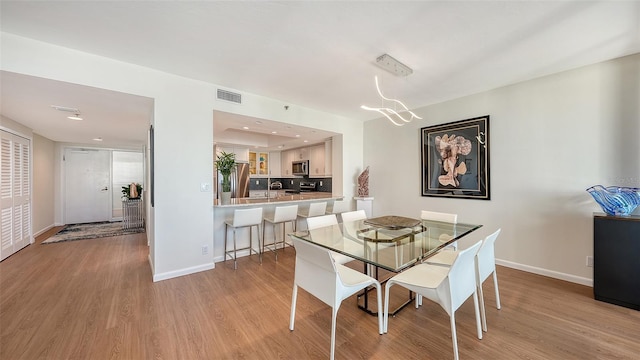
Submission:
<svg viewBox="0 0 640 360">
<path fill-rule="evenodd" d="M 0 263 L 0 359 L 326 359 L 331 310 L 300 291 L 288 329 L 294 250 L 153 283 L 145 234 L 36 244 Z M 630 276 L 638 276 L 635 274 Z M 592 289 L 499 267 L 502 310 L 484 286 L 489 331 L 473 303 L 456 313 L 461 359 L 638 359 L 640 312 Z M 394 291 L 394 290 L 392 290 Z M 406 293 L 396 290 L 393 301 Z M 338 313 L 337 359 L 450 359 L 449 318 L 425 300 L 389 319 L 355 298 Z"/>
</svg>

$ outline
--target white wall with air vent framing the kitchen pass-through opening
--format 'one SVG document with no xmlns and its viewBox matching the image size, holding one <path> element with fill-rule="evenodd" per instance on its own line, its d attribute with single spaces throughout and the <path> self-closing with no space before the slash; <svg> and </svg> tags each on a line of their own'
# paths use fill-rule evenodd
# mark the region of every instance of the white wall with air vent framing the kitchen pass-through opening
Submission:
<svg viewBox="0 0 640 360">
<path fill-rule="evenodd" d="M 216 101 L 216 86 L 117 60 L 2 33 L 2 70 L 99 87 L 154 99 L 155 208 L 148 213 L 154 280 L 214 267 L 213 111 L 222 110 L 343 133 L 345 174 L 362 164 L 362 124 L 335 115 L 243 93 L 243 104 Z M 232 90 L 234 89 L 228 89 Z M 58 174 L 59 175 L 59 174 Z M 344 193 L 353 196 L 352 179 Z M 59 189 L 59 187 L 58 187 Z"/>
</svg>

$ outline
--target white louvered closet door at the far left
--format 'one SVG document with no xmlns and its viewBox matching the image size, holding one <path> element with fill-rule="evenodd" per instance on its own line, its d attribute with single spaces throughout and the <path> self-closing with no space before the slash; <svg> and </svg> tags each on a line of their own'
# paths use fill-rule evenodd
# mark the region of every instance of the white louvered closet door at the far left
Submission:
<svg viewBox="0 0 640 360">
<path fill-rule="evenodd" d="M 29 140 L 0 131 L 0 260 L 31 243 Z"/>
</svg>

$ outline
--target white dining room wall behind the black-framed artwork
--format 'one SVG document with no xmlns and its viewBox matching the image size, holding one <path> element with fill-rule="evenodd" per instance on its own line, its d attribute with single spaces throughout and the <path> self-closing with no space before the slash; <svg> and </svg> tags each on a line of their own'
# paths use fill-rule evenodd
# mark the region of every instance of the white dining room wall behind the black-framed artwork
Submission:
<svg viewBox="0 0 640 360">
<path fill-rule="evenodd" d="M 503 264 L 592 284 L 591 185 L 640 187 L 640 54 L 415 110 L 424 120 L 365 123 L 374 215 L 458 213 L 501 227 Z M 491 200 L 422 197 L 420 128 L 490 115 Z M 385 146 L 380 146 L 385 144 Z"/>
</svg>

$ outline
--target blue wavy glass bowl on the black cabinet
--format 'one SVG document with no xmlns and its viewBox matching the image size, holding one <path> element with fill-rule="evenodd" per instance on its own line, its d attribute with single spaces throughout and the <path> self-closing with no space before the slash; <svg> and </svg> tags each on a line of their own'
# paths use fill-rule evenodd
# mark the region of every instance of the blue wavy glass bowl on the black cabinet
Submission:
<svg viewBox="0 0 640 360">
<path fill-rule="evenodd" d="M 629 216 L 640 205 L 640 188 L 594 185 L 587 192 L 607 215 Z"/>
</svg>

